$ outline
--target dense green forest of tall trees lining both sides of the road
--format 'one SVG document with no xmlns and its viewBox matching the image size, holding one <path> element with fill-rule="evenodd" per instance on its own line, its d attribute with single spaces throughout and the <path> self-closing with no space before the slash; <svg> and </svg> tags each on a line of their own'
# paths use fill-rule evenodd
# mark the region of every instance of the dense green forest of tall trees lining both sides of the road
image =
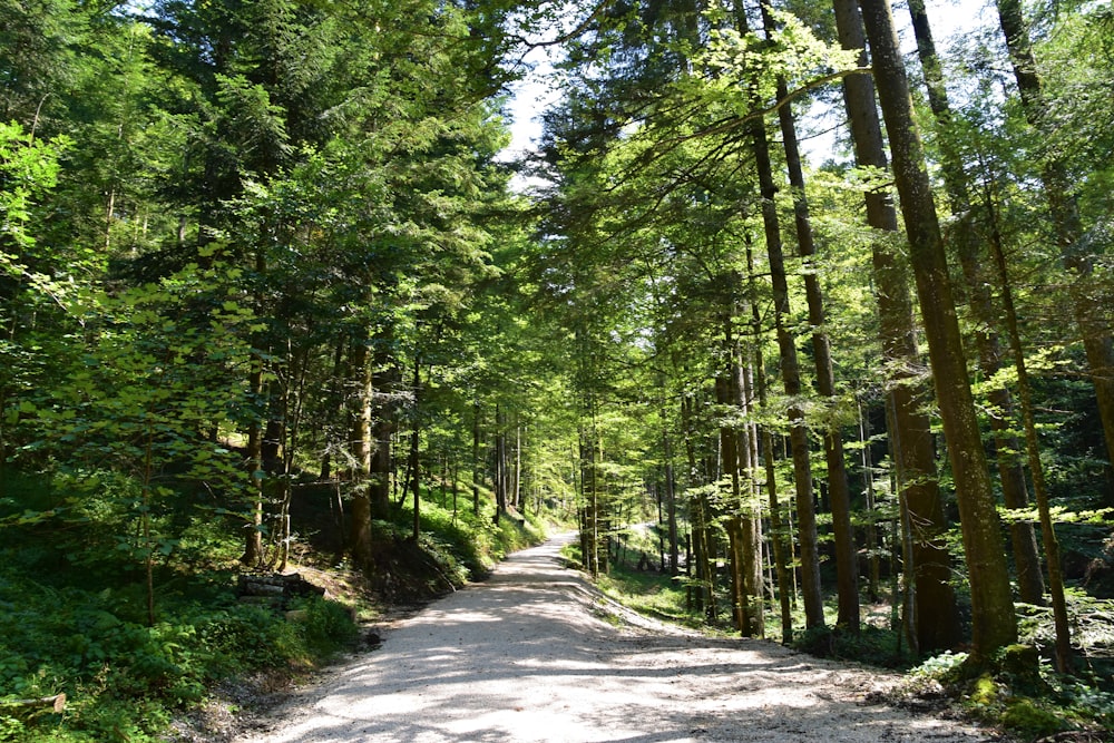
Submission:
<svg viewBox="0 0 1114 743">
<path fill-rule="evenodd" d="M 352 630 L 237 573 L 545 520 L 1114 725 L 1114 10 L 971 4 L 0 0 L 0 740 Z"/>
</svg>

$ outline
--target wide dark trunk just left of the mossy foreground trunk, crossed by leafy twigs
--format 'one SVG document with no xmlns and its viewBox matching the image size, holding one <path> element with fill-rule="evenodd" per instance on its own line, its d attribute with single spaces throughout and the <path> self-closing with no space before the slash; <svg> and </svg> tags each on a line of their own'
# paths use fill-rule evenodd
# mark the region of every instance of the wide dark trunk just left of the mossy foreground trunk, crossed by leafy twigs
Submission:
<svg viewBox="0 0 1114 743">
<path fill-rule="evenodd" d="M 840 46 L 864 49 L 862 17 L 854 0 L 834 0 Z M 866 63 L 866 53 L 860 66 Z M 843 98 L 859 165 L 887 169 L 882 130 L 871 81 L 852 75 L 843 80 Z M 885 189 L 863 194 L 867 223 L 883 233 L 898 231 L 893 202 Z M 891 238 L 873 241 L 871 261 L 878 302 L 882 355 L 888 370 L 887 414 L 890 446 L 901 485 L 900 496 L 911 511 L 917 530 L 913 540 L 915 578 L 924 612 L 917 623 L 918 644 L 925 649 L 950 648 L 960 638 L 959 610 L 951 588 L 950 556 L 942 534 L 944 516 L 936 480 L 936 452 L 928 414 L 924 411 L 927 390 L 916 378 L 921 366 L 917 348 L 909 285 Z"/>
</svg>

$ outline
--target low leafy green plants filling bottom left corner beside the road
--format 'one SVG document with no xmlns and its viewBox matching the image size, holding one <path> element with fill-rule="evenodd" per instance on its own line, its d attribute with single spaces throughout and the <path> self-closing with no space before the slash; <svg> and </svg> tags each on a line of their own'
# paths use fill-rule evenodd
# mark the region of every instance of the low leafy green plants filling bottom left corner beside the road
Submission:
<svg viewBox="0 0 1114 743">
<path fill-rule="evenodd" d="M 0 740 L 155 740 L 176 710 L 202 702 L 218 680 L 256 669 L 292 674 L 354 641 L 351 613 L 335 602 L 305 599 L 297 607 L 304 619 L 287 620 L 236 602 L 234 574 L 208 563 L 158 568 L 158 620 L 148 625 L 135 558 L 113 548 L 128 504 L 111 495 L 110 479 L 94 480 L 98 488 L 76 492 L 68 488 L 77 478 L 7 482 L 10 495 L 36 508 L 70 505 L 2 527 L 0 700 L 63 692 L 69 702 L 63 721 L 4 716 Z M 37 499 L 23 498 L 31 492 Z M 185 535 L 212 526 L 204 515 L 183 516 L 195 522 L 182 528 Z"/>
</svg>

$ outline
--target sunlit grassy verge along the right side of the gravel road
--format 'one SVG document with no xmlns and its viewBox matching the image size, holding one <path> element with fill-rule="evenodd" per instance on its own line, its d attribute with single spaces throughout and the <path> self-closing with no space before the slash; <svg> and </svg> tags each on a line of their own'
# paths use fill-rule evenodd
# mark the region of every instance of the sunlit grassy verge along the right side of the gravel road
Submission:
<svg viewBox="0 0 1114 743">
<path fill-rule="evenodd" d="M 671 578 L 658 569 L 655 545 L 635 542 L 627 547 L 626 559 L 612 559 L 608 573 L 596 579 L 596 585 L 612 599 L 645 616 L 711 636 L 736 635 L 723 586 L 719 613 L 710 619 L 693 600 L 690 589 L 693 584 L 687 577 Z M 643 554 L 652 559 L 643 561 L 643 569 L 638 569 Z M 570 565 L 582 565 L 579 545 L 568 545 L 565 557 Z M 1003 740 L 1073 743 L 1114 740 L 1114 688 L 1108 676 L 1101 669 L 1087 669 L 1076 676 L 1055 673 L 1037 649 L 1048 646 L 1045 641 L 1052 632 L 1046 626 L 1051 619 L 1039 613 L 1030 613 L 1023 623 L 1024 644 L 1005 648 L 990 668 L 971 675 L 964 665 L 966 653 L 917 657 L 901 642 L 898 632 L 888 623 L 877 622 L 878 617 L 889 615 L 887 607 L 873 606 L 870 612 L 876 622 L 868 622 L 858 636 L 852 636 L 831 628 L 837 614 L 832 604 L 825 609 L 828 628 L 801 633 L 790 645 L 812 655 L 897 669 L 905 680 L 887 695 L 887 702 L 960 714 L 988 726 Z M 766 613 L 768 641 L 781 642 L 780 624 L 780 616 Z M 803 614 L 794 616 L 794 626 L 803 624 Z"/>
</svg>

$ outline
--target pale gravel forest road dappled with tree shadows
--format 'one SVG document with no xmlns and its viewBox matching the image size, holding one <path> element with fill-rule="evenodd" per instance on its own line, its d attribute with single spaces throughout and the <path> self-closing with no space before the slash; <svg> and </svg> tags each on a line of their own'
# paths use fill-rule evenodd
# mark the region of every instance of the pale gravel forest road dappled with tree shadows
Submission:
<svg viewBox="0 0 1114 743">
<path fill-rule="evenodd" d="M 988 740 L 954 721 L 862 704 L 895 681 L 882 672 L 632 616 L 561 567 L 560 544 L 514 555 L 490 580 L 401 622 L 381 649 L 241 740 Z"/>
</svg>

